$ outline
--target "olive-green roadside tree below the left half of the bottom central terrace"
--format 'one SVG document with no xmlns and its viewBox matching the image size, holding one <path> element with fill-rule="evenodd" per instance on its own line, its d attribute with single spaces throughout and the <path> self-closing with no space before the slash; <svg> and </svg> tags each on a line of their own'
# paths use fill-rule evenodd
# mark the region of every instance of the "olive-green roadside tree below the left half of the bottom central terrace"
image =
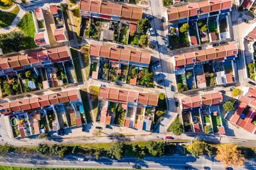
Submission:
<svg viewBox="0 0 256 170">
<path fill-rule="evenodd" d="M 120 142 L 113 143 L 113 145 L 108 150 L 108 156 L 111 159 L 121 160 L 124 152 L 123 148 L 124 148 L 123 143 L 120 143 Z"/>
</svg>

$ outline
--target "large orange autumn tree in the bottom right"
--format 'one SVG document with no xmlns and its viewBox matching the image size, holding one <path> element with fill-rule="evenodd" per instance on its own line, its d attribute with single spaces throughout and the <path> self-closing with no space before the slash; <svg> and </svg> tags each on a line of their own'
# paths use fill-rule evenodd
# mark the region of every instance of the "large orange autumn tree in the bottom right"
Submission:
<svg viewBox="0 0 256 170">
<path fill-rule="evenodd" d="M 224 168 L 244 165 L 244 155 L 236 145 L 232 143 L 218 145 L 216 160 L 220 161 Z"/>
</svg>

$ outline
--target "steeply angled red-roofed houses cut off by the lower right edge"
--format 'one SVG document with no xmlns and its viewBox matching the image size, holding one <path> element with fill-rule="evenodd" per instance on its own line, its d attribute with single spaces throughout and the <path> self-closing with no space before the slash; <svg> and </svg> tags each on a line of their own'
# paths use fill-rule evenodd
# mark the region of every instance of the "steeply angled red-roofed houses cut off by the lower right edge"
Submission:
<svg viewBox="0 0 256 170">
<path fill-rule="evenodd" d="M 229 121 L 242 129 L 256 134 L 256 90 L 246 87 L 243 96 L 239 97 L 239 105 Z"/>
</svg>

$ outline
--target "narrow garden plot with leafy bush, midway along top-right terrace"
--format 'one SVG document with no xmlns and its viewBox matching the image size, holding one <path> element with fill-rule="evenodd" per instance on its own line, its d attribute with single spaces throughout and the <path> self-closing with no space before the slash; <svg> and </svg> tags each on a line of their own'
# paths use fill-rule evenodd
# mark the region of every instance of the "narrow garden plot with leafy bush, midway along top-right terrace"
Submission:
<svg viewBox="0 0 256 170">
<path fill-rule="evenodd" d="M 207 18 L 198 20 L 198 31 L 199 31 L 199 37 L 200 42 L 202 43 L 209 43 L 209 34 L 208 34 L 208 26 L 207 26 Z"/>
</svg>

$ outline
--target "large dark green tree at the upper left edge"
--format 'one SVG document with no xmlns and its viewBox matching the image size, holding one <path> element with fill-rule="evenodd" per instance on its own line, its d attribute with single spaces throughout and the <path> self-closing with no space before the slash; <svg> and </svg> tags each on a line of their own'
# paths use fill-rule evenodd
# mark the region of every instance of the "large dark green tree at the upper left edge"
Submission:
<svg viewBox="0 0 256 170">
<path fill-rule="evenodd" d="M 0 48 L 3 52 L 19 52 L 24 46 L 24 34 L 20 31 L 12 31 L 8 34 L 0 34 Z"/>
</svg>

